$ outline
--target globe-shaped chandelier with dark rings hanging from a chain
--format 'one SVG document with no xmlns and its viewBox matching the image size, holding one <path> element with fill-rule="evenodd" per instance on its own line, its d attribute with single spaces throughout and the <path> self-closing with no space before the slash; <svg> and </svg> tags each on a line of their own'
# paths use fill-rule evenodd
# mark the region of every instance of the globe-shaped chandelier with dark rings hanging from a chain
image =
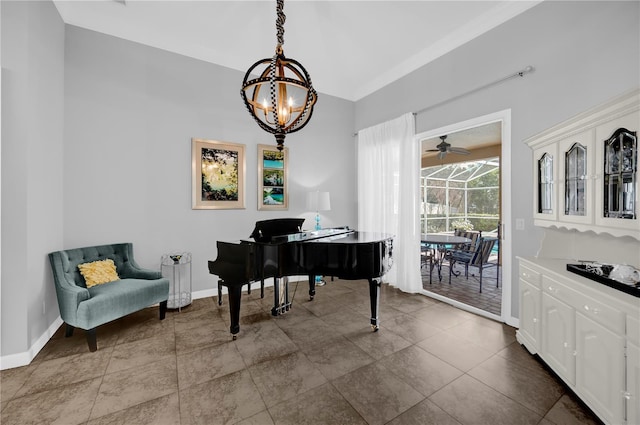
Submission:
<svg viewBox="0 0 640 425">
<path fill-rule="evenodd" d="M 240 94 L 258 125 L 274 134 L 278 150 L 284 137 L 304 127 L 318 100 L 307 70 L 296 60 L 286 58 L 284 44 L 284 0 L 277 0 L 277 44 L 272 58 L 254 63 L 244 76 Z M 252 76 L 258 76 L 252 78 Z"/>
</svg>

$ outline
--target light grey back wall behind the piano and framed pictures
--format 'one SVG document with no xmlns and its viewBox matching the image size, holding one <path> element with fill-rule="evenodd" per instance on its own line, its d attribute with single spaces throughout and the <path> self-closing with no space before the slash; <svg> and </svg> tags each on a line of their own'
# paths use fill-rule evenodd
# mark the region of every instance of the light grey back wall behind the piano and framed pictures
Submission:
<svg viewBox="0 0 640 425">
<path fill-rule="evenodd" d="M 65 66 L 65 248 L 131 241 L 155 269 L 163 253 L 190 251 L 193 290 L 203 291 L 216 288 L 216 241 L 275 217 L 312 228 L 310 189 L 331 193 L 323 225 L 355 225 L 352 102 L 320 94 L 309 124 L 285 140 L 289 210 L 258 211 L 256 145 L 275 139 L 242 103 L 244 73 L 73 26 Z M 246 145 L 246 209 L 191 209 L 192 137 Z"/>
</svg>

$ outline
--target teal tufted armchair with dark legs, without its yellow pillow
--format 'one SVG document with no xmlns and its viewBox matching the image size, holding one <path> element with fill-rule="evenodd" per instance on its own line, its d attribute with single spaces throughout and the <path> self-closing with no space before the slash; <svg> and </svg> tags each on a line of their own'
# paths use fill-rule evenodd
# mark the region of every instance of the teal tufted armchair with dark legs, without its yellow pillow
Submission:
<svg viewBox="0 0 640 425">
<path fill-rule="evenodd" d="M 120 280 L 87 288 L 79 264 L 112 259 Z M 160 305 L 160 320 L 167 311 L 169 280 L 162 273 L 143 269 L 133 259 L 133 245 L 120 243 L 56 251 L 49 254 L 65 336 L 84 329 L 90 351 L 98 349 L 96 328 L 153 304 Z"/>
</svg>

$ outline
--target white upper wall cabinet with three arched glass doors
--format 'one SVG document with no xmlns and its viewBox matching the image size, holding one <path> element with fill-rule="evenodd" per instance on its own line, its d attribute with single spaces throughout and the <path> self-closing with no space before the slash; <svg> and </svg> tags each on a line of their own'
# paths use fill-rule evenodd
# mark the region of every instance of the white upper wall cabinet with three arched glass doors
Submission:
<svg viewBox="0 0 640 425">
<path fill-rule="evenodd" d="M 534 224 L 640 240 L 639 130 L 635 90 L 525 140 Z"/>
</svg>

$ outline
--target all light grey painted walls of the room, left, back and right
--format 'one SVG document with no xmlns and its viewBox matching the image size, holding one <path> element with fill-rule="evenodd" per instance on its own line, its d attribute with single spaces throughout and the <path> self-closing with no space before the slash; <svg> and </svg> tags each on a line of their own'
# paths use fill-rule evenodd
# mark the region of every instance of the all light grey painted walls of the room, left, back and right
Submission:
<svg viewBox="0 0 640 425">
<path fill-rule="evenodd" d="M 246 237 L 267 218 L 304 216 L 312 225 L 309 188 L 331 192 L 325 225 L 355 226 L 354 129 L 529 64 L 536 71 L 524 79 L 418 115 L 417 130 L 512 109 L 513 217 L 527 223 L 514 234 L 513 255 L 535 254 L 531 153 L 522 140 L 637 86 L 640 74 L 638 2 L 544 2 L 355 105 L 320 94 L 309 125 L 285 143 L 289 211 L 262 212 L 256 145 L 273 137 L 240 101 L 242 73 L 65 27 L 50 2 L 0 7 L 3 359 L 33 350 L 55 323 L 48 252 L 131 241 L 139 262 L 158 268 L 163 253 L 189 250 L 194 290 L 213 289 L 206 261 L 215 241 Z M 191 137 L 247 145 L 245 210 L 191 209 Z M 517 315 L 516 294 L 514 282 Z"/>
</svg>

